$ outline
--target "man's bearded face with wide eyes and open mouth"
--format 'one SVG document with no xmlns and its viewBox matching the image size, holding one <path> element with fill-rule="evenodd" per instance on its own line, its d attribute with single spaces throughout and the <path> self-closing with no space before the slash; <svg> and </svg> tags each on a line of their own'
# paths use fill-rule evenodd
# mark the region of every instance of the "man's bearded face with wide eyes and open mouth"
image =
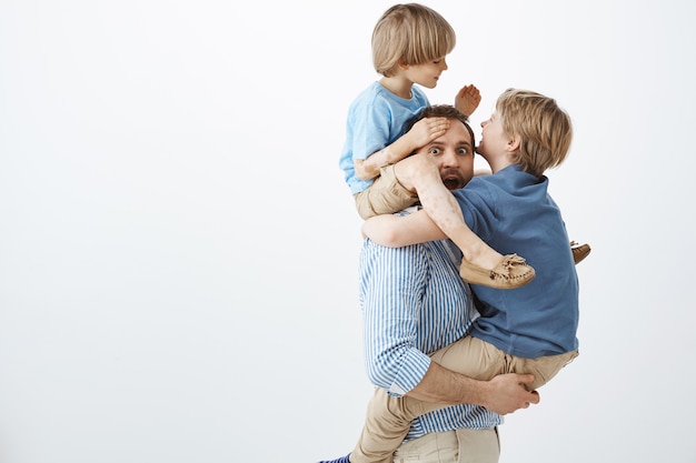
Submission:
<svg viewBox="0 0 696 463">
<path fill-rule="evenodd" d="M 474 177 L 474 147 L 469 131 L 461 121 L 450 119 L 445 134 L 416 153 L 428 154 L 440 170 L 448 190 L 463 188 Z"/>
</svg>

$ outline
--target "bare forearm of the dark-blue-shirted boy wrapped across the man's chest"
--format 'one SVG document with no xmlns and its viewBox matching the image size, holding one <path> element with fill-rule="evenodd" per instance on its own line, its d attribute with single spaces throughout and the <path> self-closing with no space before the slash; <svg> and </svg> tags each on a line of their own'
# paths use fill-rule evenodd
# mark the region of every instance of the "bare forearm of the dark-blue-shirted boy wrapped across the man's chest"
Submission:
<svg viewBox="0 0 696 463">
<path fill-rule="evenodd" d="M 362 234 L 387 248 L 401 248 L 447 238 L 426 211 L 408 215 L 376 215 L 362 223 Z"/>
</svg>

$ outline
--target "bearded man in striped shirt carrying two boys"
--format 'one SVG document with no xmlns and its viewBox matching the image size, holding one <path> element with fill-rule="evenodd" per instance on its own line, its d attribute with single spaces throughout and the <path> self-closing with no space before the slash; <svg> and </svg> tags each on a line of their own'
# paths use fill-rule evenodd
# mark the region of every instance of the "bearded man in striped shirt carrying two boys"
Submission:
<svg viewBox="0 0 696 463">
<path fill-rule="evenodd" d="M 446 117 L 444 135 L 415 155 L 436 163 L 449 190 L 474 173 L 474 133 L 451 107 L 428 107 L 417 119 Z M 538 403 L 533 375 L 504 374 L 476 381 L 432 362 L 428 354 L 466 335 L 477 316 L 459 276 L 461 255 L 449 241 L 385 248 L 366 240 L 360 254 L 368 376 L 390 395 L 453 404 L 418 416 L 395 457 L 415 462 L 497 462 L 500 415 Z M 374 461 L 357 446 L 334 463 Z M 388 460 L 389 462 L 391 459 Z"/>
</svg>

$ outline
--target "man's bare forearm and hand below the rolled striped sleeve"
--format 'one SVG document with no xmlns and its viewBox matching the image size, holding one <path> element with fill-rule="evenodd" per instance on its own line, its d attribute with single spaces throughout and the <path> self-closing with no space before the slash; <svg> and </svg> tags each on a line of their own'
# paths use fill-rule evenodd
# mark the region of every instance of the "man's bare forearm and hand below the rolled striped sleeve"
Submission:
<svg viewBox="0 0 696 463">
<path fill-rule="evenodd" d="M 539 403 L 539 393 L 524 387 L 524 384 L 533 381 L 531 374 L 516 373 L 500 374 L 490 381 L 478 381 L 431 362 L 420 383 L 407 395 L 424 402 L 481 405 L 505 415 L 526 409 L 531 403 Z"/>
</svg>

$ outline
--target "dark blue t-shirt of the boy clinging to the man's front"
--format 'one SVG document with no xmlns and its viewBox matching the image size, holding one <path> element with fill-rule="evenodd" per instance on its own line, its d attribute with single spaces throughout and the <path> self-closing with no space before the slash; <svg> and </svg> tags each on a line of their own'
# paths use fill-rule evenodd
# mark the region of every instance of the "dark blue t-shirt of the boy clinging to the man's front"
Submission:
<svg viewBox="0 0 696 463">
<path fill-rule="evenodd" d="M 507 167 L 454 192 L 471 231 L 501 254 L 525 258 L 536 276 L 515 290 L 471 285 L 481 316 L 471 335 L 534 359 L 578 349 L 578 278 L 548 178 Z"/>
</svg>

